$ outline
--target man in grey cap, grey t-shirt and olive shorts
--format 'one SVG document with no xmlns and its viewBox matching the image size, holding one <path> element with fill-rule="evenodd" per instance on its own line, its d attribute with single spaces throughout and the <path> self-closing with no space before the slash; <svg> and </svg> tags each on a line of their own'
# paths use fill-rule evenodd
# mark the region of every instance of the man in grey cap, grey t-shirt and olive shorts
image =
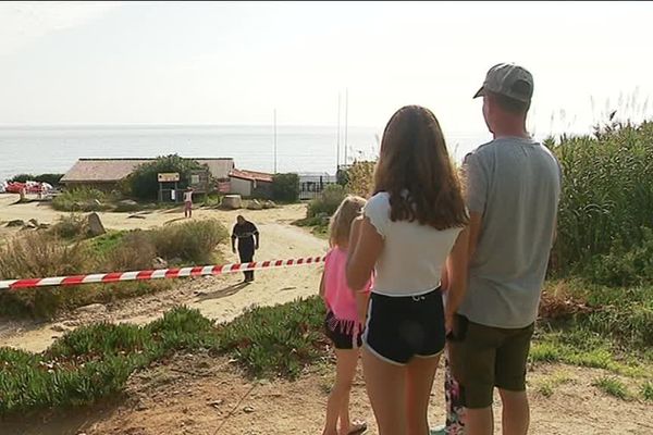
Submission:
<svg viewBox="0 0 653 435">
<path fill-rule="evenodd" d="M 526 362 L 555 237 L 562 171 L 526 129 L 533 77 L 493 66 L 475 98 L 494 140 L 463 165 L 470 212 L 469 281 L 449 334 L 454 377 L 465 402 L 465 434 L 493 433 L 492 397 L 503 402 L 503 433 L 528 432 Z"/>
</svg>

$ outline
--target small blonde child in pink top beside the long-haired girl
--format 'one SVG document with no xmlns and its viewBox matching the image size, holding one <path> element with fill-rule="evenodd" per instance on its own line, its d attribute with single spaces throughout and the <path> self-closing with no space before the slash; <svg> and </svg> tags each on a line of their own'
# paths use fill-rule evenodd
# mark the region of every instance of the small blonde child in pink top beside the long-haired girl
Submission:
<svg viewBox="0 0 653 435">
<path fill-rule="evenodd" d="M 367 430 L 367 424 L 349 420 L 349 393 L 356 375 L 365 311 L 371 286 L 371 275 L 360 291 L 353 291 L 345 276 L 349 234 L 357 233 L 365 199 L 347 196 L 331 217 L 329 245 L 320 281 L 320 296 L 326 306 L 324 328 L 335 349 L 335 385 L 326 401 L 326 420 L 322 435 L 354 435 Z M 340 428 L 338 428 L 340 422 Z"/>
</svg>

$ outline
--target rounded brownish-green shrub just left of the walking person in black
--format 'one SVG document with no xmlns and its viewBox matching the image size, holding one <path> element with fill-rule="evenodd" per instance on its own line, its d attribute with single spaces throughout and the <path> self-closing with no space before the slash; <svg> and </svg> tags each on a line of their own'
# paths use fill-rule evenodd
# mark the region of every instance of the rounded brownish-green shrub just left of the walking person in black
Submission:
<svg viewBox="0 0 653 435">
<path fill-rule="evenodd" d="M 217 220 L 171 224 L 152 229 L 150 235 L 159 257 L 193 263 L 211 262 L 218 245 L 229 238 L 226 228 Z"/>
</svg>

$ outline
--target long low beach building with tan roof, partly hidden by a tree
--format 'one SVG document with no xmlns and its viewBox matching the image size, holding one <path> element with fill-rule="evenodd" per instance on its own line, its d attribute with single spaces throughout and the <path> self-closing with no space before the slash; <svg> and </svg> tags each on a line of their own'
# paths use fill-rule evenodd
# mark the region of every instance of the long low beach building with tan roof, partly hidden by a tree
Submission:
<svg viewBox="0 0 653 435">
<path fill-rule="evenodd" d="M 156 159 L 79 159 L 61 178 L 66 188 L 88 187 L 103 191 L 119 189 L 119 184 L 143 163 Z M 213 179 L 226 182 L 234 169 L 231 158 L 194 158 L 206 164 Z"/>
</svg>

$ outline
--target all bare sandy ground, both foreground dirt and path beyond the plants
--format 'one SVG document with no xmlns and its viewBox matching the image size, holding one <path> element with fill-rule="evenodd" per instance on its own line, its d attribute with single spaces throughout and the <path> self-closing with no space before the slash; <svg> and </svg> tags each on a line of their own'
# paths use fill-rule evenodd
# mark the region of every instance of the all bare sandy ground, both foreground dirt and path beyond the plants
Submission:
<svg viewBox="0 0 653 435">
<path fill-rule="evenodd" d="M 34 203 L 9 206 L 14 200 L 14 197 L 0 196 L 0 221 L 35 217 L 48 223 L 59 215 L 48 207 Z M 257 260 L 316 256 L 326 250 L 324 240 L 289 225 L 304 212 L 303 206 L 243 212 L 261 231 Z M 215 210 L 195 212 L 196 217 L 215 217 L 230 227 L 236 214 Z M 118 229 L 163 225 L 181 215 L 181 211 L 175 210 L 148 214 L 145 220 L 128 219 L 122 213 L 101 213 L 101 219 L 107 227 Z M 0 346 L 38 351 L 78 325 L 102 320 L 140 324 L 180 303 L 197 308 L 211 319 L 229 321 L 252 303 L 282 303 L 316 294 L 319 274 L 320 268 L 315 265 L 259 272 L 257 281 L 248 286 L 236 285 L 242 279 L 239 274 L 181 279 L 173 290 L 81 308 L 53 322 L 3 322 Z M 559 364 L 531 368 L 530 433 L 653 434 L 653 406 L 606 396 L 592 385 L 604 375 L 606 373 L 599 370 Z M 311 368 L 295 382 L 260 382 L 247 378 L 223 358 L 180 355 L 134 374 L 121 397 L 83 410 L 28 419 L 17 415 L 0 421 L 0 435 L 320 434 L 333 377 L 332 365 L 325 363 Z M 637 391 L 637 382 L 621 380 Z M 544 384 L 554 384 L 551 397 L 539 393 Z M 441 370 L 431 398 L 433 425 L 444 420 L 442 385 Z M 352 393 L 350 409 L 354 418 L 373 423 L 360 373 Z M 500 414 L 497 408 L 497 432 Z M 373 424 L 367 433 L 377 434 Z"/>
</svg>

